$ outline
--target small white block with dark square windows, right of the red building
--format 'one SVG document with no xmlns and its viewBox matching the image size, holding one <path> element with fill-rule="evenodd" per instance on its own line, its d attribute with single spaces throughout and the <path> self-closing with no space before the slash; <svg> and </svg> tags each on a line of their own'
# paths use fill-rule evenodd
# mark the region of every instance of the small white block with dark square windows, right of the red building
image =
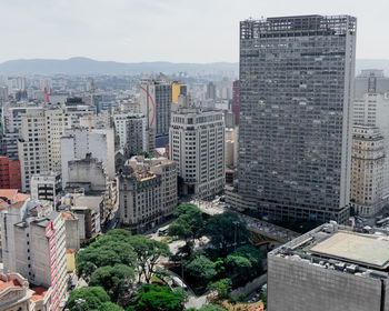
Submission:
<svg viewBox="0 0 389 311">
<path fill-rule="evenodd" d="M 50 201 L 56 209 L 60 203 L 61 190 L 62 180 L 60 173 L 42 172 L 31 177 L 30 193 L 32 200 Z"/>
</svg>

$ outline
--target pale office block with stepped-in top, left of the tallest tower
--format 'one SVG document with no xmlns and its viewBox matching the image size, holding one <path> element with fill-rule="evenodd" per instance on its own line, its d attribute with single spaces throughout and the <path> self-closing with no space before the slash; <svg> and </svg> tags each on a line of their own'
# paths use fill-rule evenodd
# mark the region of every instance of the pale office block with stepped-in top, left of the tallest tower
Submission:
<svg viewBox="0 0 389 311">
<path fill-rule="evenodd" d="M 172 112 L 169 159 L 178 163 L 183 195 L 210 198 L 225 185 L 225 122 L 221 111 L 182 107 Z"/>
</svg>

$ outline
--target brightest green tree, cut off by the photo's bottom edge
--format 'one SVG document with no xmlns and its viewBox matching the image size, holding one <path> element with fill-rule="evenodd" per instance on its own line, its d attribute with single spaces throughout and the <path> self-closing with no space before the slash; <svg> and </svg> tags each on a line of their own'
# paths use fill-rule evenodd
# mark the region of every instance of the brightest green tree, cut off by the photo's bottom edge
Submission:
<svg viewBox="0 0 389 311">
<path fill-rule="evenodd" d="M 144 284 L 140 287 L 127 311 L 181 311 L 184 298 L 169 287 Z"/>
</svg>

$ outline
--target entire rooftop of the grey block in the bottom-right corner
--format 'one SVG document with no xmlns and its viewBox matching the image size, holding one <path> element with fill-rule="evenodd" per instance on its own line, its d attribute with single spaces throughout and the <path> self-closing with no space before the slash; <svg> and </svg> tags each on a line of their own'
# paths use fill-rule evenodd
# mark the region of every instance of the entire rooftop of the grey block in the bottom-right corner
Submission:
<svg viewBox="0 0 389 311">
<path fill-rule="evenodd" d="M 268 255 L 342 273 L 389 279 L 389 230 L 356 229 L 330 221 Z"/>
</svg>

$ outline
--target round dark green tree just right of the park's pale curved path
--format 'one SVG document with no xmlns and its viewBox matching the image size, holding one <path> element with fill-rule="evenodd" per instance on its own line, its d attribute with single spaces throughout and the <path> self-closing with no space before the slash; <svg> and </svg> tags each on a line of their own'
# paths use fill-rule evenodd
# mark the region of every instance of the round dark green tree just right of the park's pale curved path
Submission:
<svg viewBox="0 0 389 311">
<path fill-rule="evenodd" d="M 186 274 L 196 281 L 197 284 L 205 287 L 217 274 L 215 264 L 205 255 L 199 255 L 183 265 Z"/>
</svg>

